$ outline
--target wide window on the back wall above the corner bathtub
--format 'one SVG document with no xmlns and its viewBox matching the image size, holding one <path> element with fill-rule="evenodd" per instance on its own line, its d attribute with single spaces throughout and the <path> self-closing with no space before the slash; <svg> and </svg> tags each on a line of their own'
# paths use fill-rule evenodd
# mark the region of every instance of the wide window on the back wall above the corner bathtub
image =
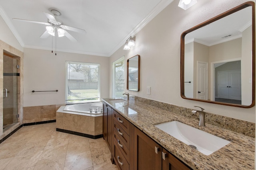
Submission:
<svg viewBox="0 0 256 170">
<path fill-rule="evenodd" d="M 100 64 L 66 61 L 66 104 L 100 101 Z"/>
</svg>

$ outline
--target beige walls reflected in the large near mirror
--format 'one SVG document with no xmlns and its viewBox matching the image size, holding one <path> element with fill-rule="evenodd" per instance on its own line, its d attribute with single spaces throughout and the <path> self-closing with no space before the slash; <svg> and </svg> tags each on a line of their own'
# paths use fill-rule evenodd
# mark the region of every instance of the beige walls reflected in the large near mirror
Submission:
<svg viewBox="0 0 256 170">
<path fill-rule="evenodd" d="M 185 83 L 185 96 L 196 98 L 196 63 L 197 61 L 216 62 L 228 59 L 241 58 L 242 81 L 242 105 L 250 105 L 252 102 L 252 27 L 248 27 L 242 33 L 242 38 L 237 38 L 210 47 L 192 42 L 185 45 L 184 56 L 184 80 L 194 83 Z M 208 66 L 208 68 L 210 68 Z M 193 74 L 192 71 L 193 70 Z M 212 82 L 208 71 L 208 99 L 213 95 L 210 92 Z"/>
</svg>

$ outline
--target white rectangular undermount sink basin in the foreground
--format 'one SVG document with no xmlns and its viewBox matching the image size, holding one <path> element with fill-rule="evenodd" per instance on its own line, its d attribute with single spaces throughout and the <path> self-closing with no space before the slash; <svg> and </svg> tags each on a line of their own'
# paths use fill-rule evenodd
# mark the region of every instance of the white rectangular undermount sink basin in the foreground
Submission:
<svg viewBox="0 0 256 170">
<path fill-rule="evenodd" d="M 178 121 L 162 123 L 155 125 L 155 127 L 172 135 L 187 145 L 194 145 L 199 152 L 205 155 L 210 155 L 230 143 L 230 141 Z"/>
</svg>

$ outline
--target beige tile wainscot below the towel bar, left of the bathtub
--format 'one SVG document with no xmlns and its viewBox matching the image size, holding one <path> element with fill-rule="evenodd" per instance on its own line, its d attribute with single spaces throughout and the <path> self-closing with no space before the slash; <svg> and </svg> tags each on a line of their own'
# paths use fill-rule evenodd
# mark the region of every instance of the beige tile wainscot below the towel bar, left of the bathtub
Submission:
<svg viewBox="0 0 256 170">
<path fill-rule="evenodd" d="M 23 107 L 23 123 L 56 120 L 56 110 L 59 107 L 58 105 Z"/>
</svg>

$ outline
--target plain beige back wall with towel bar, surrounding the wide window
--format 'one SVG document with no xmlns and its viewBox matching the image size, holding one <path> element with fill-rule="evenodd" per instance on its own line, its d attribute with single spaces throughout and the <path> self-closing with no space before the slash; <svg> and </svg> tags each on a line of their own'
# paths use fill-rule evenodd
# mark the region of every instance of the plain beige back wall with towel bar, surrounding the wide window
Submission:
<svg viewBox="0 0 256 170">
<path fill-rule="evenodd" d="M 24 106 L 65 104 L 66 61 L 100 63 L 100 97 L 108 98 L 109 57 L 75 53 L 51 53 L 24 48 Z M 34 92 L 58 90 L 58 92 Z"/>
</svg>

